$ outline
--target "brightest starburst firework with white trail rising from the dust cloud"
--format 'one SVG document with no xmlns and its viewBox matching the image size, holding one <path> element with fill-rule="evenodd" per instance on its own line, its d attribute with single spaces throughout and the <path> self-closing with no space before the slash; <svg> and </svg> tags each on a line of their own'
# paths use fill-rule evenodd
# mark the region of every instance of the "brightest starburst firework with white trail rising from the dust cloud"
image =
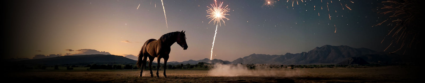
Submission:
<svg viewBox="0 0 425 83">
<path fill-rule="evenodd" d="M 222 7 L 223 2 L 221 2 L 219 5 L 217 4 L 217 1 L 215 1 L 215 4 L 211 4 L 211 7 L 208 7 L 209 9 L 207 10 L 207 15 L 208 19 L 211 19 L 210 22 L 212 21 L 214 24 L 217 23 L 217 25 L 215 25 L 215 34 L 214 34 L 214 39 L 212 40 L 212 47 L 211 47 L 211 57 L 210 60 L 212 60 L 212 49 L 214 49 L 214 42 L 215 42 L 215 36 L 217 34 L 217 28 L 218 25 L 221 26 L 221 21 L 223 21 L 223 24 L 225 24 L 223 19 L 227 19 L 224 15 L 229 15 L 226 14 L 226 12 L 229 12 L 229 8 L 227 8 L 227 6 Z M 227 19 L 229 20 L 229 19 Z M 210 23 L 208 22 L 208 23 Z"/>
</svg>

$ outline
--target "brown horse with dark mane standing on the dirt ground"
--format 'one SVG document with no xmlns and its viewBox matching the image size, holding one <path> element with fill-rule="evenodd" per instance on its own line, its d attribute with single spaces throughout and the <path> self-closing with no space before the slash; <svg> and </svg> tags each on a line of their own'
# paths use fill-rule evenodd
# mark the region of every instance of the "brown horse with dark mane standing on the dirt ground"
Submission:
<svg viewBox="0 0 425 83">
<path fill-rule="evenodd" d="M 186 32 L 186 31 L 184 31 Z M 142 46 L 142 50 L 140 50 L 139 53 L 139 60 L 137 60 L 137 67 L 142 67 L 142 71 L 140 71 L 139 77 L 142 77 L 142 72 L 144 69 L 144 66 L 146 66 L 147 58 L 149 58 L 149 69 L 150 69 L 150 77 L 153 77 L 152 74 L 152 61 L 154 58 L 157 58 L 158 67 L 156 69 L 156 77 L 159 77 L 159 62 L 161 58 L 164 58 L 164 77 L 167 77 L 165 75 L 165 69 L 167 69 L 167 61 L 170 54 L 170 47 L 174 44 L 174 42 L 177 42 L 178 45 L 183 47 L 183 50 L 187 49 L 186 44 L 186 35 L 184 34 L 183 30 L 167 33 L 161 36 L 158 40 L 156 39 L 149 39 L 146 42 L 144 42 Z"/>
</svg>

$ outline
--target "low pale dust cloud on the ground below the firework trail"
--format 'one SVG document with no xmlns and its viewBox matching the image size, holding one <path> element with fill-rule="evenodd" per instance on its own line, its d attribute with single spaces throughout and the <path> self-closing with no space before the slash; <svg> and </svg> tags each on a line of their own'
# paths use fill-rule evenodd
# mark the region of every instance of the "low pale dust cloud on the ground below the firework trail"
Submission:
<svg viewBox="0 0 425 83">
<path fill-rule="evenodd" d="M 210 76 L 277 76 L 292 77 L 301 75 L 296 69 L 270 68 L 267 65 L 255 65 L 255 69 L 249 69 L 242 64 L 214 64 L 208 71 Z"/>
</svg>

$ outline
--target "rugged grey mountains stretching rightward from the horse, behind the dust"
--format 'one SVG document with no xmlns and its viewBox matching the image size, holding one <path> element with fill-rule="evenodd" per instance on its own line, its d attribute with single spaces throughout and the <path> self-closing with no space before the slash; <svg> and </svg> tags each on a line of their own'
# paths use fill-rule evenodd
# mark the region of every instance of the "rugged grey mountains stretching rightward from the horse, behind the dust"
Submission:
<svg viewBox="0 0 425 83">
<path fill-rule="evenodd" d="M 315 47 L 313 50 L 302 53 L 286 53 L 285 55 L 266 55 L 266 54 L 251 54 L 243 58 L 238 58 L 232 62 L 222 61 L 219 59 L 205 58 L 202 60 L 170 62 L 171 64 L 196 64 L 199 62 L 206 63 L 222 63 L 222 64 L 369 64 L 380 62 L 397 62 L 402 61 L 400 55 L 386 54 L 376 52 L 367 48 L 353 48 L 349 46 L 331 46 L 324 45 Z"/>
</svg>

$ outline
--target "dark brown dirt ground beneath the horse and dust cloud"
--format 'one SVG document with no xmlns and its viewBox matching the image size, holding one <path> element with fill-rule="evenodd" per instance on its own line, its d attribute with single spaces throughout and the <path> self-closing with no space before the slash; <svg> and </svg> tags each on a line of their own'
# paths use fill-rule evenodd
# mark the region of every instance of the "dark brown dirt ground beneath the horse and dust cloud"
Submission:
<svg viewBox="0 0 425 83">
<path fill-rule="evenodd" d="M 136 70 L 19 70 L 3 76 L 12 82 L 43 83 L 418 83 L 420 67 L 385 66 L 371 68 L 295 68 L 273 70 L 273 75 L 210 76 L 207 70 L 167 70 L 167 78 L 150 77 Z M 288 73 L 296 71 L 296 73 Z M 288 75 L 290 74 L 290 75 Z"/>
</svg>

